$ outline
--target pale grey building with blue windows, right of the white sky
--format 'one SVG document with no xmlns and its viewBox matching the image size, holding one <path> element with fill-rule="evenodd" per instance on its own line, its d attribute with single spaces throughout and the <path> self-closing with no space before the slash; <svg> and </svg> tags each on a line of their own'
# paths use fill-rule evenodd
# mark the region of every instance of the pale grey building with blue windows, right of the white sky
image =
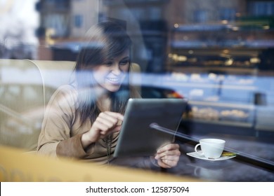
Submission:
<svg viewBox="0 0 274 196">
<path fill-rule="evenodd" d="M 41 29 L 53 29 L 54 38 L 77 38 L 98 21 L 98 0 L 41 0 Z"/>
</svg>

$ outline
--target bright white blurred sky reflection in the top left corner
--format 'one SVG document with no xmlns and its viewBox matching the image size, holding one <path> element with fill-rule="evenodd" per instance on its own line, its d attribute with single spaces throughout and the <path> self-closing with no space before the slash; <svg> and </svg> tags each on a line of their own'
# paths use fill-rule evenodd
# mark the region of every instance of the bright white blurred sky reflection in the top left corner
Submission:
<svg viewBox="0 0 274 196">
<path fill-rule="evenodd" d="M 39 44 L 35 34 L 39 27 L 39 14 L 35 10 L 37 1 L 1 1 L 0 58 L 37 58 Z"/>
</svg>

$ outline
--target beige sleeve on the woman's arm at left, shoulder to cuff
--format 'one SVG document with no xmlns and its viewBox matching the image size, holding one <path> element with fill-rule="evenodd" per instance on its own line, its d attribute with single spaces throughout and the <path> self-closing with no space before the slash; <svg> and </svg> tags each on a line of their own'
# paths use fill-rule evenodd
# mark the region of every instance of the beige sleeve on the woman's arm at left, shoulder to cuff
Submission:
<svg viewBox="0 0 274 196">
<path fill-rule="evenodd" d="M 38 153 L 53 157 L 84 158 L 87 156 L 81 145 L 82 134 L 71 137 L 71 127 L 75 120 L 76 99 L 76 90 L 70 85 L 58 88 L 53 94 L 46 107 L 38 140 Z"/>
</svg>

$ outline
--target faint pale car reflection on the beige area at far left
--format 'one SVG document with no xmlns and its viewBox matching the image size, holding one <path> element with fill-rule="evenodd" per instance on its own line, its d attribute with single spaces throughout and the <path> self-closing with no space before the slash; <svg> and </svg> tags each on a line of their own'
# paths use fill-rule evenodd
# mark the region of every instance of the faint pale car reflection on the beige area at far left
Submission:
<svg viewBox="0 0 274 196">
<path fill-rule="evenodd" d="M 48 102 L 54 91 L 37 84 L 1 83 L 0 144 L 34 150 L 44 118 L 44 101 Z"/>
</svg>

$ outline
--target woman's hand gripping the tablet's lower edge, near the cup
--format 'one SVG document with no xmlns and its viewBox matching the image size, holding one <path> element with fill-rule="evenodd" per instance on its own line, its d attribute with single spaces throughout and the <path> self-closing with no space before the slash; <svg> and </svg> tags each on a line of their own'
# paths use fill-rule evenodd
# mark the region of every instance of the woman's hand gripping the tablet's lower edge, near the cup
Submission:
<svg viewBox="0 0 274 196">
<path fill-rule="evenodd" d="M 159 167 L 171 168 L 178 164 L 180 155 L 181 152 L 179 151 L 178 144 L 167 144 L 166 146 L 159 148 L 155 155 L 155 159 L 157 160 Z"/>
</svg>

